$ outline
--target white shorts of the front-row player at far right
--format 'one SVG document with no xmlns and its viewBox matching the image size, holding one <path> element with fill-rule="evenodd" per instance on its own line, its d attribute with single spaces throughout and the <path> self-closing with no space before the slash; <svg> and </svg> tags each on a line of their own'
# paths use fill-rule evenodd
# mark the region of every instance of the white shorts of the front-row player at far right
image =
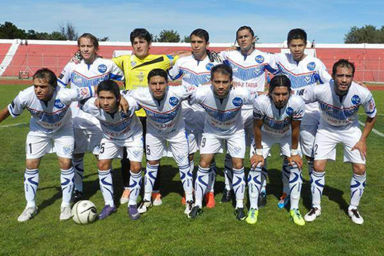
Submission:
<svg viewBox="0 0 384 256">
<path fill-rule="evenodd" d="M 358 127 L 344 130 L 320 126 L 313 146 L 315 160 L 336 160 L 336 145 L 341 143 L 344 146 L 344 162 L 365 164 L 365 159 L 357 149 L 350 151 L 360 140 L 361 135 L 362 131 Z"/>
</svg>

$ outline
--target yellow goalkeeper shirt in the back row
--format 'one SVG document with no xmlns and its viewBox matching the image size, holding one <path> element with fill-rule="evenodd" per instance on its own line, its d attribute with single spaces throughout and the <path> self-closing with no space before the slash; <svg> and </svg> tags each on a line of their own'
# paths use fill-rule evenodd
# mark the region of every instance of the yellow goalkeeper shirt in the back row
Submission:
<svg viewBox="0 0 384 256">
<path fill-rule="evenodd" d="M 149 54 L 144 59 L 135 55 L 122 55 L 113 58 L 112 61 L 123 70 L 125 77 L 125 89 L 132 90 L 140 87 L 147 87 L 147 76 L 154 68 L 168 70 L 179 59 L 179 56 L 172 57 L 165 54 Z M 136 111 L 137 116 L 145 116 L 144 110 Z"/>
</svg>

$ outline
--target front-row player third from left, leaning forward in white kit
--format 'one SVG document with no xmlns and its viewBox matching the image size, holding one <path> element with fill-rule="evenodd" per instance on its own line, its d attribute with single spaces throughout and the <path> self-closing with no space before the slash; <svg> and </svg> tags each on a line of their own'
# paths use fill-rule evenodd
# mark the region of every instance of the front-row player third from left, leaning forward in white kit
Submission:
<svg viewBox="0 0 384 256">
<path fill-rule="evenodd" d="M 193 180 L 189 168 L 189 147 L 186 138 L 185 124 L 182 116 L 182 100 L 192 93 L 186 86 L 168 87 L 167 72 L 155 68 L 148 74 L 148 87 L 131 91 L 131 96 L 147 114 L 146 156 L 147 170 L 145 172 L 144 199 L 139 206 L 139 212 L 145 213 L 152 206 L 151 196 L 158 172 L 158 165 L 163 157 L 166 142 L 169 143 L 173 158 L 179 167 L 186 195 L 188 214 L 193 206 Z"/>
</svg>

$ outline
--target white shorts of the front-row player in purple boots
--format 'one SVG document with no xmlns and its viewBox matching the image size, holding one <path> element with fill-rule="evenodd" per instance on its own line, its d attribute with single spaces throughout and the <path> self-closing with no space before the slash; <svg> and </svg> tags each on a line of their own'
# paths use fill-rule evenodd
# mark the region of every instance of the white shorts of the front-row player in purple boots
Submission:
<svg viewBox="0 0 384 256">
<path fill-rule="evenodd" d="M 123 158 L 124 146 L 126 147 L 127 158 L 133 162 L 141 163 L 143 155 L 142 133 L 133 135 L 126 140 L 110 140 L 103 137 L 98 159 Z"/>
</svg>

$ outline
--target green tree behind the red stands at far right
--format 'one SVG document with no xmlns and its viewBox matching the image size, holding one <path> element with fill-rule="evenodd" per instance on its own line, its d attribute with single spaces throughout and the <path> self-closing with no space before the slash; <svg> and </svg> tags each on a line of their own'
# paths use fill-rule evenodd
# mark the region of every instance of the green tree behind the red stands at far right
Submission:
<svg viewBox="0 0 384 256">
<path fill-rule="evenodd" d="M 384 43 L 384 26 L 381 29 L 373 25 L 351 27 L 344 36 L 344 43 Z"/>
</svg>

